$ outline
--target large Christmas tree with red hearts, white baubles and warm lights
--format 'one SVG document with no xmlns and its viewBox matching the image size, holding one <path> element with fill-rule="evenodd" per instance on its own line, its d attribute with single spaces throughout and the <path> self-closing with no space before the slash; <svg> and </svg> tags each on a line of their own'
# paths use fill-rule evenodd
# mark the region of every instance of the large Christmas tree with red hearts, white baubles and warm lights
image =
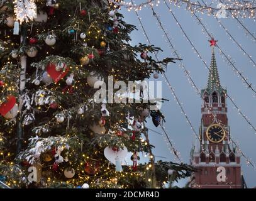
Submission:
<svg viewBox="0 0 256 201">
<path fill-rule="evenodd" d="M 155 188 L 189 176 L 190 166 L 153 156 L 145 120 L 161 123 L 162 100 L 135 102 L 147 96 L 135 83 L 174 59 L 131 46 L 136 28 L 116 4 L 7 0 L 0 8 L 2 187 Z"/>
</svg>

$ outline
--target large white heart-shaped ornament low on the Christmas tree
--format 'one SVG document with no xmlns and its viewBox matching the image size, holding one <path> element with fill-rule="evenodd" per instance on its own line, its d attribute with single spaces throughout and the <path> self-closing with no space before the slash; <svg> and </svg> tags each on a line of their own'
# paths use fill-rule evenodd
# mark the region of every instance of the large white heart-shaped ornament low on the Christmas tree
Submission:
<svg viewBox="0 0 256 201">
<path fill-rule="evenodd" d="M 120 161 L 124 161 L 127 153 L 128 150 L 126 147 L 123 149 L 120 148 L 118 151 L 114 151 L 109 146 L 104 149 L 104 156 L 113 164 L 116 164 L 116 158 L 118 158 Z"/>
</svg>

